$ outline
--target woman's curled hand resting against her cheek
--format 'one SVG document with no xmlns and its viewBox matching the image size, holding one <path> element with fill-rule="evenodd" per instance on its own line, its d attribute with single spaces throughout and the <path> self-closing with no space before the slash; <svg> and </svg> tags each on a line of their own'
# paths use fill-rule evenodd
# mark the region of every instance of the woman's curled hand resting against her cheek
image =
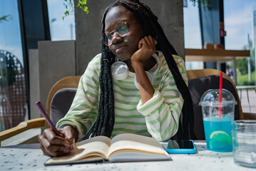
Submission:
<svg viewBox="0 0 256 171">
<path fill-rule="evenodd" d="M 145 36 L 138 42 L 138 51 L 133 53 L 130 61 L 133 62 L 141 62 L 146 61 L 150 56 L 155 53 L 155 39 L 152 36 Z"/>
</svg>

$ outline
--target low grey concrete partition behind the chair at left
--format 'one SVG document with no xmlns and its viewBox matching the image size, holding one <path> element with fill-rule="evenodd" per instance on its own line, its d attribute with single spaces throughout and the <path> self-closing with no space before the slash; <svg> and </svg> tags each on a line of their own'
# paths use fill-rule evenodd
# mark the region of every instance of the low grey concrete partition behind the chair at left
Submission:
<svg viewBox="0 0 256 171">
<path fill-rule="evenodd" d="M 29 51 L 31 118 L 39 118 L 35 102 L 46 105 L 51 87 L 61 78 L 76 76 L 75 41 L 39 41 Z"/>
</svg>

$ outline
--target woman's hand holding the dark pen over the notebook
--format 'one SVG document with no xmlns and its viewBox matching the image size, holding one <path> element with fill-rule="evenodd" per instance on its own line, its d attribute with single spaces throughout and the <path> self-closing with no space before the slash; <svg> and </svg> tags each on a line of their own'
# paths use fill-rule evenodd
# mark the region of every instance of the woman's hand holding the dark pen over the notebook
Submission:
<svg viewBox="0 0 256 171">
<path fill-rule="evenodd" d="M 63 137 L 59 137 L 51 128 L 43 130 L 39 137 L 40 148 L 44 155 L 50 157 L 66 155 L 74 148 L 74 142 L 77 140 L 77 131 L 70 125 L 59 129 Z"/>
</svg>

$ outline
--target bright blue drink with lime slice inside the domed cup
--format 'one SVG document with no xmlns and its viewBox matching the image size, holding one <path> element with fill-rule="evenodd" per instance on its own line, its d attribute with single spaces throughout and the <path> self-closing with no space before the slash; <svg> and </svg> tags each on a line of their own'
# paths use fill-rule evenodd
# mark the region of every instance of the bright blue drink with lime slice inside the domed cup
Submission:
<svg viewBox="0 0 256 171">
<path fill-rule="evenodd" d="M 205 128 L 205 140 L 208 150 L 215 152 L 232 151 L 232 116 L 224 118 L 212 116 L 203 119 Z"/>
</svg>

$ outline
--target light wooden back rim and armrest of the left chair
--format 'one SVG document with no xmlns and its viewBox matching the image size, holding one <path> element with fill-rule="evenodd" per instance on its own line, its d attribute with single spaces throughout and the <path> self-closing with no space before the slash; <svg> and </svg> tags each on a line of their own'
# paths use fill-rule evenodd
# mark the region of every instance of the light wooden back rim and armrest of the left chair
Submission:
<svg viewBox="0 0 256 171">
<path fill-rule="evenodd" d="M 81 76 L 68 76 L 66 78 L 62 78 L 61 80 L 57 81 L 53 85 L 50 92 L 48 93 L 48 98 L 46 103 L 47 115 L 50 118 L 51 118 L 51 103 L 52 103 L 52 99 L 54 98 L 54 95 L 56 95 L 58 90 L 61 90 L 63 88 L 77 88 L 80 78 Z M 3 132 L 0 133 L 0 145 L 1 145 L 1 141 L 3 140 L 11 138 L 12 136 L 22 133 L 31 128 L 39 128 L 39 127 L 45 127 L 45 128 L 49 127 L 48 123 L 46 123 L 46 120 L 44 118 L 36 118 L 36 119 L 31 119 L 31 120 L 26 120 L 24 122 L 21 122 L 16 127 L 11 128 L 9 130 L 4 130 Z"/>
</svg>

